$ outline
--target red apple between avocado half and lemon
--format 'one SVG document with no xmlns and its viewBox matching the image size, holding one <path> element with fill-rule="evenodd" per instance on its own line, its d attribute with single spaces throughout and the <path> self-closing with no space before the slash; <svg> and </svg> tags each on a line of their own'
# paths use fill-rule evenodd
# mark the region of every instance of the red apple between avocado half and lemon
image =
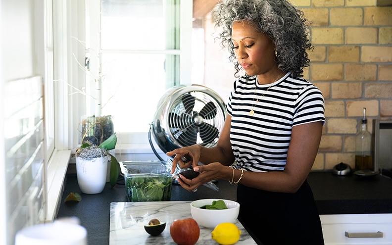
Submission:
<svg viewBox="0 0 392 245">
<path fill-rule="evenodd" d="M 170 235 L 178 245 L 195 245 L 200 236 L 200 228 L 193 218 L 176 219 L 170 225 Z"/>
</svg>

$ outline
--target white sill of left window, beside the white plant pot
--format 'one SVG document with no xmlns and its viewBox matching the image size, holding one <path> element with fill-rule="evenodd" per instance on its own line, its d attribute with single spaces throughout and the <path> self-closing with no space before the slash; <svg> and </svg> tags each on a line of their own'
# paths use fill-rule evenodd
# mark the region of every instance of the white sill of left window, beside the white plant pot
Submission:
<svg viewBox="0 0 392 245">
<path fill-rule="evenodd" d="M 60 199 L 64 191 L 64 179 L 68 168 L 71 150 L 55 151 L 49 160 L 47 183 L 47 215 L 45 222 L 52 222 L 60 208 Z"/>
</svg>

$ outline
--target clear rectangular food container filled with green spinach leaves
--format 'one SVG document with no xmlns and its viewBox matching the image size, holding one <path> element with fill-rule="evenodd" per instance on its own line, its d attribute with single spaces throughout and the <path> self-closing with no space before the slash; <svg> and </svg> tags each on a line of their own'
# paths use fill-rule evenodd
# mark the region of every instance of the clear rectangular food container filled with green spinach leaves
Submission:
<svg viewBox="0 0 392 245">
<path fill-rule="evenodd" d="M 122 161 L 120 167 L 129 201 L 170 201 L 170 161 Z"/>
</svg>

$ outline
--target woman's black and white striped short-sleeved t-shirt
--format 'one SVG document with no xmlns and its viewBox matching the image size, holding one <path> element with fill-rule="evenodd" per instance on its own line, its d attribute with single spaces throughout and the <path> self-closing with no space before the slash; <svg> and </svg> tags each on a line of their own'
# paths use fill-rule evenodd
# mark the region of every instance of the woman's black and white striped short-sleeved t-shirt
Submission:
<svg viewBox="0 0 392 245">
<path fill-rule="evenodd" d="M 232 116 L 230 141 L 237 168 L 253 172 L 284 169 L 293 126 L 325 123 L 320 90 L 290 73 L 266 85 L 258 84 L 256 76 L 240 77 L 226 108 Z M 252 108 L 253 116 L 249 114 Z"/>
</svg>

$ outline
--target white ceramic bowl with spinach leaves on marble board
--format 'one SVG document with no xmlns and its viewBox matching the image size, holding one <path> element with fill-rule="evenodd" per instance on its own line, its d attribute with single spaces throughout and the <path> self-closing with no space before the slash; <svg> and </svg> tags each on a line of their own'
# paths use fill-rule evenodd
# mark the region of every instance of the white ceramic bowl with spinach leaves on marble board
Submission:
<svg viewBox="0 0 392 245">
<path fill-rule="evenodd" d="M 227 209 L 202 209 L 201 206 L 212 204 L 212 201 L 223 200 Z M 200 199 L 191 202 L 191 214 L 197 224 L 214 229 L 220 223 L 235 223 L 240 212 L 240 203 L 225 199 Z"/>
</svg>

